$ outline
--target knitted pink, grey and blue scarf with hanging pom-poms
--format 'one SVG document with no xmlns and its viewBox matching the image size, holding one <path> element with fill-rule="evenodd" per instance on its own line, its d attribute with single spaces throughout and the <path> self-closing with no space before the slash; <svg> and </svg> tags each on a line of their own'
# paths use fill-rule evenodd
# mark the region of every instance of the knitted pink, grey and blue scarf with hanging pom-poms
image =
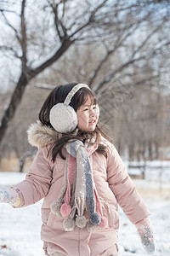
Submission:
<svg viewBox="0 0 170 256">
<path fill-rule="evenodd" d="M 93 153 L 84 148 L 81 141 L 67 143 L 63 184 L 51 210 L 64 217 L 65 231 L 84 228 L 92 232 L 98 227 L 105 228 L 107 219 L 103 217 L 99 196 L 94 187 L 93 173 L 88 156 Z M 86 211 L 85 211 L 86 210 Z"/>
</svg>

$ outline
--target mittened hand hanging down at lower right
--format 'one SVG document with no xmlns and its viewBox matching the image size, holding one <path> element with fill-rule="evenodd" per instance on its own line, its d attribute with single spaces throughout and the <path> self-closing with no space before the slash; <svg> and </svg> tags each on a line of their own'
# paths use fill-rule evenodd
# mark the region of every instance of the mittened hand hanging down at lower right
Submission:
<svg viewBox="0 0 170 256">
<path fill-rule="evenodd" d="M 147 253 L 155 252 L 155 242 L 153 231 L 150 226 L 150 219 L 144 218 L 136 224 L 140 239 Z"/>
</svg>

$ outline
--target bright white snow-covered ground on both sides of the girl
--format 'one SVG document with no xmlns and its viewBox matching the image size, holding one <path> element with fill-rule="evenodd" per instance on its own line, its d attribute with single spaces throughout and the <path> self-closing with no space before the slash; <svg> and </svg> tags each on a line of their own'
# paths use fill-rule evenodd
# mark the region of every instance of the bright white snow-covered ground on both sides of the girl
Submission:
<svg viewBox="0 0 170 256">
<path fill-rule="evenodd" d="M 133 180 L 148 205 L 156 238 L 156 256 L 170 255 L 170 168 L 154 168 L 146 172 L 145 180 Z M 168 168 L 167 168 L 168 167 Z M 163 171 L 162 171 L 163 170 Z M 14 185 L 25 173 L 0 172 L 0 184 Z M 42 201 L 34 206 L 13 209 L 0 204 L 0 256 L 44 256 L 41 230 Z M 65 241 L 66 242 L 66 241 Z M 135 227 L 120 209 L 120 256 L 144 256 Z"/>
</svg>

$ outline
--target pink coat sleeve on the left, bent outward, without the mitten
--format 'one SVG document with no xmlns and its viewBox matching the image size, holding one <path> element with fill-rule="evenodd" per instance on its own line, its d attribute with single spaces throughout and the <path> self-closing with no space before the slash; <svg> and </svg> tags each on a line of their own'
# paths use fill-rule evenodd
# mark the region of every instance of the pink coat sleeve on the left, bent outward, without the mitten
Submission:
<svg viewBox="0 0 170 256">
<path fill-rule="evenodd" d="M 40 148 L 31 164 L 26 180 L 14 186 L 20 197 L 20 206 L 36 203 L 48 194 L 52 180 L 52 163 L 48 160 L 48 148 Z"/>
</svg>

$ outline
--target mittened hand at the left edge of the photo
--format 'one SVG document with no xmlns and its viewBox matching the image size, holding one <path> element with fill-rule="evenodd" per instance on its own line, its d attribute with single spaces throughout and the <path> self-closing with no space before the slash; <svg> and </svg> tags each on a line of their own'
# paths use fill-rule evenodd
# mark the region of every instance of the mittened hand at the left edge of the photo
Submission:
<svg viewBox="0 0 170 256">
<path fill-rule="evenodd" d="M 0 202 L 18 207 L 20 205 L 19 194 L 14 188 L 0 185 Z"/>
</svg>

